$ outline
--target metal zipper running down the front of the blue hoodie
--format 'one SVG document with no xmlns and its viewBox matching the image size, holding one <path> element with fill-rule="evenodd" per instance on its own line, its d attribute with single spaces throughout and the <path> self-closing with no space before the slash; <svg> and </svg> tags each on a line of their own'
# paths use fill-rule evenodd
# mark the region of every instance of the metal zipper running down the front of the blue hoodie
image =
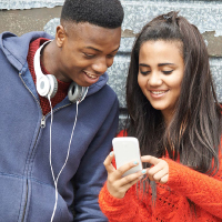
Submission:
<svg viewBox="0 0 222 222">
<path fill-rule="evenodd" d="M 22 73 L 19 72 L 19 77 L 20 77 L 22 83 L 23 83 L 24 87 L 29 90 L 29 92 L 32 94 L 32 97 L 34 98 L 34 100 L 37 101 L 37 103 L 39 104 L 39 107 L 40 107 L 40 109 L 41 109 L 41 105 L 40 105 L 39 100 L 34 97 L 34 94 L 32 93 L 32 91 L 27 87 L 27 84 L 26 84 L 26 82 L 23 81 L 21 74 L 22 74 Z M 71 105 L 71 103 L 65 104 L 65 105 L 63 105 L 63 107 L 60 107 L 60 108 L 53 110 L 53 113 L 57 112 L 58 110 L 60 110 L 60 109 L 62 109 L 62 108 L 65 108 L 65 107 L 69 107 L 69 105 Z M 41 112 L 42 112 L 42 109 L 41 109 Z M 31 157 L 32 153 L 33 153 L 34 147 L 36 147 L 36 144 L 37 144 L 37 140 L 38 140 L 38 138 L 39 138 L 40 130 L 41 130 L 42 128 L 46 128 L 46 120 L 47 120 L 47 118 L 48 118 L 49 115 L 50 115 L 50 113 L 47 114 L 47 115 L 42 115 L 42 118 L 41 118 L 41 124 L 40 124 L 40 128 L 39 128 L 39 131 L 38 131 L 38 134 L 37 134 L 36 141 L 34 141 L 34 144 L 33 144 L 33 148 L 32 148 L 32 150 L 31 150 L 30 157 Z M 26 188 L 26 201 L 24 201 L 24 206 L 23 206 L 23 212 L 22 212 L 22 220 L 21 220 L 21 222 L 24 222 L 24 215 L 26 215 L 26 211 L 27 211 L 27 202 L 28 202 L 28 194 L 29 194 L 29 192 L 28 192 L 28 191 L 29 191 L 28 178 L 27 178 L 27 184 L 26 184 L 26 185 L 27 185 L 27 188 Z"/>
</svg>

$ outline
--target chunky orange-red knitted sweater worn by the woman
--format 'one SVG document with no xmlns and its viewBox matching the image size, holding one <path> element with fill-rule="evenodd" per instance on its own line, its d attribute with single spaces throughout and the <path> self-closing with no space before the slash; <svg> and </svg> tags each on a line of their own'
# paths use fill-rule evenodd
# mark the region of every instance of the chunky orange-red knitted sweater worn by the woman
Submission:
<svg viewBox="0 0 222 222">
<path fill-rule="evenodd" d="M 119 137 L 123 137 L 122 132 Z M 220 170 L 213 176 L 163 159 L 169 164 L 169 181 L 165 184 L 157 183 L 155 205 L 152 204 L 151 189 L 148 194 L 142 195 L 142 191 L 133 185 L 123 199 L 117 199 L 104 184 L 99 203 L 109 221 L 222 222 L 222 157 Z M 190 205 L 188 199 L 194 206 Z"/>
</svg>

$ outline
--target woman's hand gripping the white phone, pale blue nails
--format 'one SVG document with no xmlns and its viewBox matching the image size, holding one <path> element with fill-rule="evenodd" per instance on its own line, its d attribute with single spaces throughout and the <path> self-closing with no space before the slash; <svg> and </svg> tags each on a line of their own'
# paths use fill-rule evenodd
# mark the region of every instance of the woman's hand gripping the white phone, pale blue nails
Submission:
<svg viewBox="0 0 222 222">
<path fill-rule="evenodd" d="M 141 180 L 141 176 L 147 173 L 147 170 L 138 171 L 137 173 L 123 176 L 128 170 L 139 164 L 139 160 L 125 163 L 115 170 L 115 168 L 112 165 L 113 157 L 114 152 L 111 152 L 103 162 L 108 172 L 107 188 L 112 196 L 122 199 L 124 198 L 127 191 L 139 180 Z"/>
</svg>

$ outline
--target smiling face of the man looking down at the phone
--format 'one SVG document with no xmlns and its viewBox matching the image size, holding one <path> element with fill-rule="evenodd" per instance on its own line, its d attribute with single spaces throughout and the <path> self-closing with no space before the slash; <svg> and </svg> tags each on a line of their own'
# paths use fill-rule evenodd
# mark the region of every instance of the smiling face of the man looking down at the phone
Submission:
<svg viewBox="0 0 222 222">
<path fill-rule="evenodd" d="M 108 29 L 88 22 L 74 23 L 62 30 L 60 61 L 57 77 L 89 87 L 99 80 L 109 67 L 120 47 L 121 28 Z"/>
</svg>

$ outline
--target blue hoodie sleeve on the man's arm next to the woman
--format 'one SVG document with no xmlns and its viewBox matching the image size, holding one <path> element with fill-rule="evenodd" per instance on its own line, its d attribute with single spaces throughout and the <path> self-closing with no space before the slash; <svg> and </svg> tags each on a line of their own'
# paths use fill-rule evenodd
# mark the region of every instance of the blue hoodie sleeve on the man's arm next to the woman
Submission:
<svg viewBox="0 0 222 222">
<path fill-rule="evenodd" d="M 99 208 L 98 195 L 107 179 L 103 161 L 111 151 L 111 142 L 118 128 L 119 102 L 117 95 L 112 100 L 112 107 L 110 104 L 110 111 L 88 147 L 74 175 L 74 221 L 108 221 Z"/>
</svg>

